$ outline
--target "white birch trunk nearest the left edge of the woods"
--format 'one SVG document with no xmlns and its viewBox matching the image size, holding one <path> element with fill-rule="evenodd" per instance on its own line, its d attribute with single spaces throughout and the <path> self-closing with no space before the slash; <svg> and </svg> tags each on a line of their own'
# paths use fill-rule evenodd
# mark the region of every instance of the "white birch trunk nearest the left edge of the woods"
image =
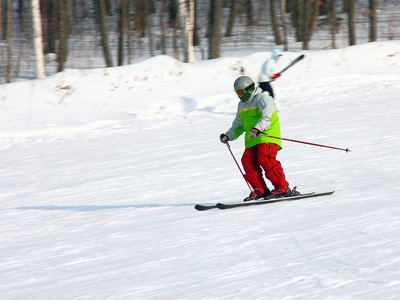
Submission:
<svg viewBox="0 0 400 300">
<path fill-rule="evenodd" d="M 42 35 L 42 18 L 40 16 L 39 0 L 31 1 L 32 7 L 32 27 L 33 27 L 33 48 L 35 51 L 35 78 L 43 78 L 44 71 L 44 54 L 43 54 L 43 35 Z"/>
</svg>

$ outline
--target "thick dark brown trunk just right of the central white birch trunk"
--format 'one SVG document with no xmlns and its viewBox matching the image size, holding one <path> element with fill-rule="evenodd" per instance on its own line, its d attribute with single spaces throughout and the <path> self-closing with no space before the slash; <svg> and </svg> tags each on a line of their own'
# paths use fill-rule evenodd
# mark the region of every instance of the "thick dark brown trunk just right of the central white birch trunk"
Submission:
<svg viewBox="0 0 400 300">
<path fill-rule="evenodd" d="M 210 8 L 208 59 L 220 57 L 222 0 L 212 0 Z"/>
</svg>

